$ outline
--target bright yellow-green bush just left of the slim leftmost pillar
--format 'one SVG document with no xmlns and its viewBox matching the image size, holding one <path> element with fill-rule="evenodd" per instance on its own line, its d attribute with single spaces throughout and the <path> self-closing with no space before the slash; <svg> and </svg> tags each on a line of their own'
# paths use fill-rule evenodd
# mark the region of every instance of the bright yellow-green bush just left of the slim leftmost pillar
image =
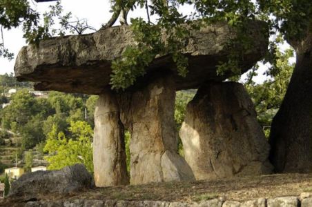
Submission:
<svg viewBox="0 0 312 207">
<path fill-rule="evenodd" d="M 89 172 L 93 172 L 92 128 L 85 121 L 72 121 L 68 128 L 68 137 L 64 132 L 57 132 L 53 126 L 44 150 L 49 170 L 59 170 L 65 166 L 82 163 Z"/>
</svg>

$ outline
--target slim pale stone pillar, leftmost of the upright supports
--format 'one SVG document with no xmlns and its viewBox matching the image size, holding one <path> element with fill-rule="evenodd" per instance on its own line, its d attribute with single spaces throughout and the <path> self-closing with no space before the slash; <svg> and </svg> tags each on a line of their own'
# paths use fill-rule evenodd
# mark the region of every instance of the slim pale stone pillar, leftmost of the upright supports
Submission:
<svg viewBox="0 0 312 207">
<path fill-rule="evenodd" d="M 93 164 L 96 186 L 128 184 L 124 126 L 115 94 L 110 90 L 99 95 L 95 108 Z"/>
</svg>

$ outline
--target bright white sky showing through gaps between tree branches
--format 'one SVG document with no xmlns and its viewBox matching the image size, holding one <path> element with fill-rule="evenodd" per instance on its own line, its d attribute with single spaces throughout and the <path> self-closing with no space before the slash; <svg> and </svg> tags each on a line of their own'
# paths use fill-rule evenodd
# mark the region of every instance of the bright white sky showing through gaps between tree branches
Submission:
<svg viewBox="0 0 312 207">
<path fill-rule="evenodd" d="M 33 0 L 28 0 L 33 9 L 43 13 L 48 10 L 48 6 L 53 4 L 53 2 L 46 3 L 36 3 Z M 61 0 L 61 6 L 64 8 L 64 13 L 72 12 L 72 17 L 78 17 L 79 19 L 88 19 L 88 25 L 93 26 L 95 29 L 101 28 L 102 23 L 106 23 L 110 17 L 110 3 L 109 0 Z M 183 6 L 179 8 L 183 14 L 190 14 L 192 8 L 190 6 Z M 144 9 L 137 9 L 134 12 L 128 14 L 128 19 L 131 17 L 146 17 L 146 11 Z M 155 17 L 151 19 L 155 20 Z M 117 23 L 118 24 L 118 23 Z M 17 54 L 22 46 L 26 46 L 26 41 L 23 39 L 23 32 L 21 28 L 16 28 L 12 30 L 3 30 L 3 39 L 6 48 L 10 52 L 14 53 L 14 57 L 17 57 Z M 5 73 L 14 72 L 14 62 L 8 61 L 0 57 L 0 75 Z M 266 70 L 265 66 L 261 66 L 258 70 L 258 76 L 255 77 L 254 81 L 256 83 L 262 83 L 265 79 L 264 71 Z M 244 76 L 242 77 L 244 79 Z"/>
</svg>

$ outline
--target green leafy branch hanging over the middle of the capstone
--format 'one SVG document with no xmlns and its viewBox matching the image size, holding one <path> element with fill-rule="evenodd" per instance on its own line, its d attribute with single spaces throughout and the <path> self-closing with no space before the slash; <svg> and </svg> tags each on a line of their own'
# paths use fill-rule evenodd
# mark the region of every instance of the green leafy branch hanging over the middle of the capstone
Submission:
<svg viewBox="0 0 312 207">
<path fill-rule="evenodd" d="M 186 44 L 186 37 L 189 37 L 188 22 L 175 6 L 167 6 L 164 1 L 157 2 L 150 6 L 152 14 L 162 17 L 157 24 L 146 23 L 142 18 L 131 19 L 130 27 L 137 44 L 128 46 L 121 59 L 113 61 L 112 88 L 125 89 L 133 85 L 137 77 L 146 73 L 146 67 L 156 55 L 170 55 L 179 75 L 186 76 L 188 61 L 181 50 Z"/>
</svg>

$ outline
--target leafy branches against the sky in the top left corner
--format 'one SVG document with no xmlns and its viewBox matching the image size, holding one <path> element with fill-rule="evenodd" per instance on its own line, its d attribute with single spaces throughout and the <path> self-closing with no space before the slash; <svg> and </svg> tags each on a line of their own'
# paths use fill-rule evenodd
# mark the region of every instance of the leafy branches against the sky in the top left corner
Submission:
<svg viewBox="0 0 312 207">
<path fill-rule="evenodd" d="M 30 7 L 26 0 L 1 0 L 0 1 L 0 26 L 10 30 L 21 26 L 23 37 L 27 43 L 38 44 L 41 39 L 55 35 L 63 36 L 66 32 L 82 34 L 85 30 L 95 30 L 88 26 L 86 19 L 71 21 L 72 14 L 64 14 L 61 2 L 49 6 L 49 10 L 41 14 Z M 58 27 L 56 27 L 58 26 Z M 2 29 L 1 29 L 2 33 Z M 0 43 L 0 57 L 13 58 L 5 46 L 2 38 Z"/>
</svg>

